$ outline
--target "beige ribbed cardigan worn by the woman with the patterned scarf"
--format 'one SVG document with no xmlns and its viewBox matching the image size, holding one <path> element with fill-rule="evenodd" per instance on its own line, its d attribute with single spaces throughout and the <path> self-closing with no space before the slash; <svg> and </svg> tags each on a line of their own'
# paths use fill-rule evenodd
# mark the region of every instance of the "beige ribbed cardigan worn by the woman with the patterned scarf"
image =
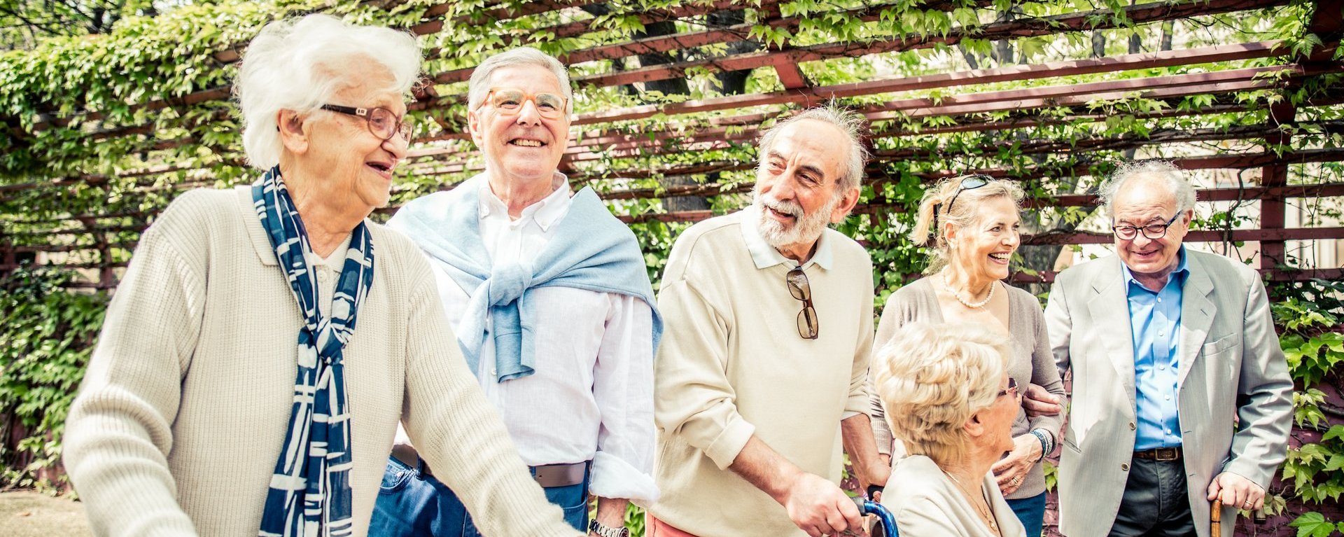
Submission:
<svg viewBox="0 0 1344 537">
<path fill-rule="evenodd" d="M 345 347 L 353 517 L 368 528 L 398 420 L 492 536 L 575 536 L 458 355 L 434 279 L 371 225 Z M 98 536 L 254 537 L 289 428 L 301 319 L 247 187 L 192 191 L 140 240 L 66 425 Z"/>
</svg>

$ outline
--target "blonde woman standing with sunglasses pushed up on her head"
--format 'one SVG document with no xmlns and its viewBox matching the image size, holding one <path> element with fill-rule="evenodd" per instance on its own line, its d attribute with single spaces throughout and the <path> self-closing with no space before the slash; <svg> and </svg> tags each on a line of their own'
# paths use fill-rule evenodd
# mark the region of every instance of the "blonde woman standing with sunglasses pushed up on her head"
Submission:
<svg viewBox="0 0 1344 537">
<path fill-rule="evenodd" d="M 1000 281 L 1008 277 L 1008 261 L 1020 244 L 1021 198 L 1016 184 L 985 175 L 948 179 L 925 192 L 911 238 L 929 248 L 933 260 L 925 277 L 887 299 L 874 349 L 891 342 L 896 330 L 911 322 L 980 326 L 1008 345 L 1008 375 L 1016 385 L 1035 384 L 1063 398 L 1040 303 Z M 890 456 L 892 440 L 883 413 L 874 397 L 878 451 Z M 1046 478 L 1040 460 L 1055 450 L 1060 425 L 1059 415 L 1028 419 L 1019 412 L 1013 443 L 993 467 L 999 490 L 1030 537 L 1042 532 Z"/>
</svg>

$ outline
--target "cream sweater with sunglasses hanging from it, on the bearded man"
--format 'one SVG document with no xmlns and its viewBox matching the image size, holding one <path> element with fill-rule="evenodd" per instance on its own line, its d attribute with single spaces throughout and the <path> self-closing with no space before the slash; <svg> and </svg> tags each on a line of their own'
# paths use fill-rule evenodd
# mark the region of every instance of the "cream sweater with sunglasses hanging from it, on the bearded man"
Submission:
<svg viewBox="0 0 1344 537">
<path fill-rule="evenodd" d="M 727 468 L 755 435 L 839 483 L 840 420 L 868 410 L 872 264 L 859 244 L 825 230 L 832 266 L 805 269 L 820 338 L 802 339 L 790 266 L 757 268 L 746 214 L 696 223 L 668 258 L 653 377 L 663 497 L 650 511 L 702 537 L 801 536 L 784 506 Z"/>
</svg>

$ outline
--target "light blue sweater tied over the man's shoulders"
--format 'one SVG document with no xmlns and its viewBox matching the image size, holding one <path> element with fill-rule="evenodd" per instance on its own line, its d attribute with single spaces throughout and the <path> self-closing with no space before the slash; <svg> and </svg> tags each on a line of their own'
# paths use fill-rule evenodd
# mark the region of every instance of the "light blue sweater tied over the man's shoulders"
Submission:
<svg viewBox="0 0 1344 537">
<path fill-rule="evenodd" d="M 441 261 L 453 281 L 470 295 L 457 327 L 457 343 L 472 373 L 478 371 L 481 347 L 485 338 L 492 336 L 497 382 L 532 374 L 538 319 L 528 307 L 527 292 L 542 287 L 571 287 L 644 300 L 653 311 L 652 342 L 653 355 L 657 355 L 663 319 L 653 301 L 653 285 L 640 244 L 593 188 L 585 187 L 574 195 L 569 214 L 532 266 L 492 265 L 480 231 L 481 188 L 489 188 L 484 174 L 453 190 L 417 198 L 387 222 Z"/>
</svg>

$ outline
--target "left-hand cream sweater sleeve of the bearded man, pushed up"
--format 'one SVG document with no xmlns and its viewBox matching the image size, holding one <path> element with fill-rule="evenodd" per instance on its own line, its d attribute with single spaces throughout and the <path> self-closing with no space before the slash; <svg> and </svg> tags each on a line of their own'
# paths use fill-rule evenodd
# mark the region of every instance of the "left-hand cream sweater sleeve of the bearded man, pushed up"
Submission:
<svg viewBox="0 0 1344 537">
<path fill-rule="evenodd" d="M 659 310 L 667 331 L 655 363 L 655 420 L 726 470 L 755 432 L 727 377 L 731 327 L 687 279 L 664 277 Z"/>
</svg>

